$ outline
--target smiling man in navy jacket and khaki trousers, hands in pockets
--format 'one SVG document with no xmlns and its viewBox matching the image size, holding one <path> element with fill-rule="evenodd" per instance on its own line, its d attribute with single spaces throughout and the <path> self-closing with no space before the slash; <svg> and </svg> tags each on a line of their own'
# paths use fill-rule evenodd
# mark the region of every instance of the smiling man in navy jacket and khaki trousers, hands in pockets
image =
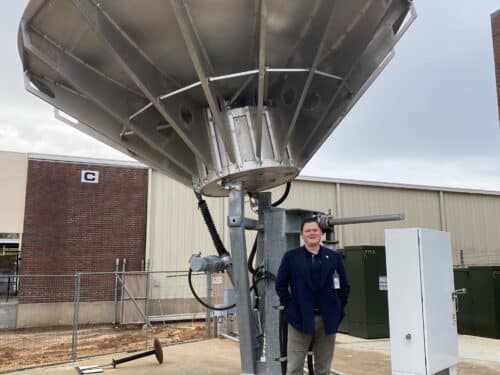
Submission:
<svg viewBox="0 0 500 375">
<path fill-rule="evenodd" d="M 276 278 L 276 292 L 288 320 L 286 373 L 303 374 L 313 342 L 314 373 L 327 375 L 349 282 L 340 254 L 320 245 L 323 232 L 314 219 L 304 220 L 300 234 L 304 246 L 285 253 Z"/>
</svg>

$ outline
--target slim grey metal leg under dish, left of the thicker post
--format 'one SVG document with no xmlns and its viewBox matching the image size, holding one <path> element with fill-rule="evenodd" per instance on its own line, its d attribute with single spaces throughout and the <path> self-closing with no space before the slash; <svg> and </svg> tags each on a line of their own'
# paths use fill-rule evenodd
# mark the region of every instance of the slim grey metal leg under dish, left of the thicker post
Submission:
<svg viewBox="0 0 500 375">
<path fill-rule="evenodd" d="M 237 294 L 236 311 L 240 335 L 240 358 L 242 374 L 255 374 L 257 362 L 257 327 L 252 315 L 250 285 L 248 281 L 247 251 L 244 220 L 245 189 L 243 183 L 230 186 L 229 191 L 229 237 L 231 240 L 232 281 Z"/>
</svg>

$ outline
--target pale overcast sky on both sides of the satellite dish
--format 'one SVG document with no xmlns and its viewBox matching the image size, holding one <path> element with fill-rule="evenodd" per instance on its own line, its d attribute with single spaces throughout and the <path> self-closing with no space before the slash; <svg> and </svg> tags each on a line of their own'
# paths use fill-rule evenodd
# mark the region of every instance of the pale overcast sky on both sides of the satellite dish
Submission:
<svg viewBox="0 0 500 375">
<path fill-rule="evenodd" d="M 0 150 L 128 159 L 54 119 L 23 87 L 25 0 L 0 2 Z M 303 175 L 500 190 L 490 14 L 499 0 L 415 0 L 396 56 Z"/>
</svg>

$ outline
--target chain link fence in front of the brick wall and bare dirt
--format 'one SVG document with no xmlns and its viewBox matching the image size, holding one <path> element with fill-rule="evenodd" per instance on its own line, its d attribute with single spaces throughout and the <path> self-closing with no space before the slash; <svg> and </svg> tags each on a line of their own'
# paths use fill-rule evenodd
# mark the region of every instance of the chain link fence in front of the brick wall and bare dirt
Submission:
<svg viewBox="0 0 500 375">
<path fill-rule="evenodd" d="M 209 337 L 213 315 L 185 271 L 2 275 L 0 372 Z M 206 303 L 211 278 L 193 273 Z M 13 292 L 15 291 L 15 293 Z"/>
</svg>

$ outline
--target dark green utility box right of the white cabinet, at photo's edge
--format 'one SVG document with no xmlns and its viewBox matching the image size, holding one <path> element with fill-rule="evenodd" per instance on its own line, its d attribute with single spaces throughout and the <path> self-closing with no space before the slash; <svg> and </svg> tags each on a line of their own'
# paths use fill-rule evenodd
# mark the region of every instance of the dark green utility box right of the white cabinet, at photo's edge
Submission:
<svg viewBox="0 0 500 375">
<path fill-rule="evenodd" d="M 500 339 L 500 266 L 456 268 L 455 289 L 466 288 L 458 296 L 458 332 Z"/>
</svg>

